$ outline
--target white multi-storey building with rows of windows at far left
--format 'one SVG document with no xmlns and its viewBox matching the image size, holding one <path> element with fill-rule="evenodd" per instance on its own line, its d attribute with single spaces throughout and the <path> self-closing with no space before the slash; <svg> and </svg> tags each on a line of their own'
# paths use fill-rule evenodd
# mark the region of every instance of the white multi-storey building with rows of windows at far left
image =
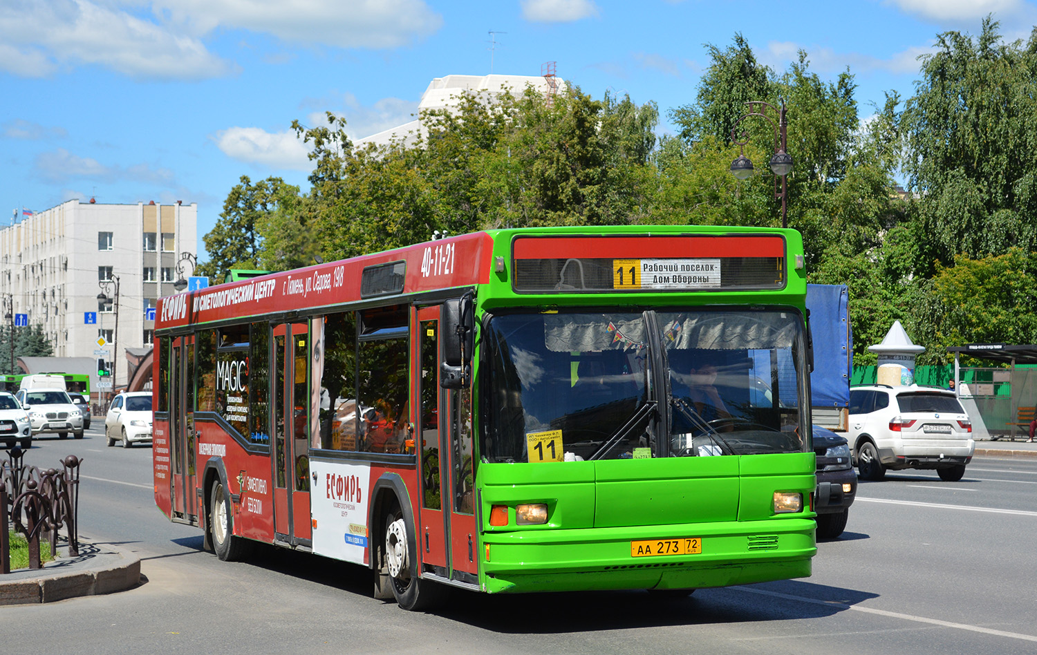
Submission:
<svg viewBox="0 0 1037 655">
<path fill-rule="evenodd" d="M 43 328 L 55 357 L 94 357 L 104 337 L 115 387 L 121 387 L 125 349 L 151 344 L 155 319 L 147 309 L 192 273 L 185 255 L 197 255 L 197 219 L 196 204 L 92 199 L 24 217 L 0 229 L 0 317 L 11 308 L 12 315 L 26 314 L 29 325 Z M 107 303 L 97 297 L 102 292 Z"/>
</svg>

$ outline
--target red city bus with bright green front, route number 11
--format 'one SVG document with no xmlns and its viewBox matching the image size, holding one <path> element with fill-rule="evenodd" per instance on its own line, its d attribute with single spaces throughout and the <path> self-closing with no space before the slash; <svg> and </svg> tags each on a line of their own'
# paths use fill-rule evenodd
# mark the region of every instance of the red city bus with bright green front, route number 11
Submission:
<svg viewBox="0 0 1037 655">
<path fill-rule="evenodd" d="M 155 495 L 405 608 L 805 577 L 794 230 L 487 230 L 161 298 Z"/>
</svg>

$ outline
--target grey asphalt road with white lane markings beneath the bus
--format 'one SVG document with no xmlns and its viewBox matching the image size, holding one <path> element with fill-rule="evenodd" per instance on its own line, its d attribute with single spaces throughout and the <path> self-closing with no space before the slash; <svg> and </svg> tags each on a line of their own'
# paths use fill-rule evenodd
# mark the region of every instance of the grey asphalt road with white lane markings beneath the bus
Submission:
<svg viewBox="0 0 1037 655">
<path fill-rule="evenodd" d="M 369 573 L 260 548 L 201 550 L 151 502 L 150 449 L 40 439 L 37 465 L 85 457 L 81 532 L 142 559 L 141 587 L 0 609 L 5 653 L 961 653 L 1037 652 L 1037 460 L 978 458 L 960 482 L 926 472 L 862 483 L 842 538 L 802 580 L 700 590 L 498 597 L 436 614 L 370 598 Z"/>
</svg>

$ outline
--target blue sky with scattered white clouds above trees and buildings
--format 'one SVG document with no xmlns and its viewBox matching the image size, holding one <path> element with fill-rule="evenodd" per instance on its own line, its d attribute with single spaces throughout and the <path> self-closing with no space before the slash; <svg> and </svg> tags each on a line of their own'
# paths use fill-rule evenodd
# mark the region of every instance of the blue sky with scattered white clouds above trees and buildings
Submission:
<svg viewBox="0 0 1037 655">
<path fill-rule="evenodd" d="M 200 240 L 242 175 L 308 190 L 292 119 L 332 111 L 364 137 L 411 120 L 432 78 L 491 65 L 555 61 L 594 97 L 656 102 L 669 132 L 704 45 L 735 32 L 779 72 L 801 49 L 824 79 L 848 66 L 866 118 L 912 94 L 937 33 L 988 12 L 1007 39 L 1037 24 L 1027 0 L 3 0 L 0 211 L 197 202 Z"/>
</svg>

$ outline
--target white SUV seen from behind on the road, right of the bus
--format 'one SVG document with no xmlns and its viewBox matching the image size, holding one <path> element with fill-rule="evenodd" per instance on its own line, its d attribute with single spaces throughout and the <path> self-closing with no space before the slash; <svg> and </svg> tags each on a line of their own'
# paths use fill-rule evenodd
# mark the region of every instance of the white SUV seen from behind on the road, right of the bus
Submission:
<svg viewBox="0 0 1037 655">
<path fill-rule="evenodd" d="M 881 480 L 888 468 L 935 468 L 957 482 L 976 449 L 954 392 L 918 385 L 850 389 L 846 436 L 862 480 Z"/>
</svg>

